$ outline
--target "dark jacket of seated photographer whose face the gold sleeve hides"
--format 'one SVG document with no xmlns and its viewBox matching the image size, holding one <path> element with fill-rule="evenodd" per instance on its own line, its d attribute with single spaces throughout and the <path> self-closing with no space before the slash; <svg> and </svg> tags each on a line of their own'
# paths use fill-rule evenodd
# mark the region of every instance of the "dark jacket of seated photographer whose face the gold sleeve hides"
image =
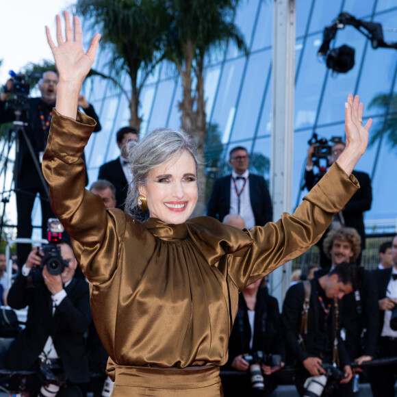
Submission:
<svg viewBox="0 0 397 397">
<path fill-rule="evenodd" d="M 251 326 L 248 322 L 248 308 L 243 294 L 238 297 L 238 313 L 229 339 L 230 366 L 238 355 L 253 353 L 258 350 L 266 354 L 284 355 L 281 334 L 281 316 L 279 303 L 268 294 L 267 288 L 259 288 L 255 305 L 253 348 L 249 347 Z"/>
</svg>

